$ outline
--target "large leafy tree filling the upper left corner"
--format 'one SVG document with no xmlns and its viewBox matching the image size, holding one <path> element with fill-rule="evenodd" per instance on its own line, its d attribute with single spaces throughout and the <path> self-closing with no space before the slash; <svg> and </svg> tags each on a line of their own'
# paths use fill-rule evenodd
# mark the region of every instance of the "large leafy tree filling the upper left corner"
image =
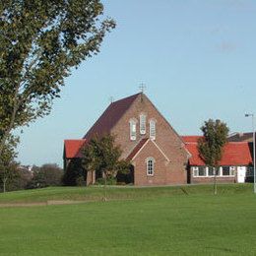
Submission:
<svg viewBox="0 0 256 256">
<path fill-rule="evenodd" d="M 50 112 L 72 68 L 106 32 L 100 0 L 0 0 L 0 155 L 11 132 Z"/>
</svg>

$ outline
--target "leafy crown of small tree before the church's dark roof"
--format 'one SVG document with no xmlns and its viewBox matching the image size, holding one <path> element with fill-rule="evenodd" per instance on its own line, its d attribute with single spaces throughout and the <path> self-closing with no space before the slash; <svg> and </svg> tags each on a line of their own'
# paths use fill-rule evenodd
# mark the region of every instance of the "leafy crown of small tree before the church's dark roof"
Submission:
<svg viewBox="0 0 256 256">
<path fill-rule="evenodd" d="M 128 162 L 119 160 L 121 149 L 114 144 L 114 137 L 105 135 L 93 138 L 83 149 L 83 166 L 96 170 L 97 176 L 114 177 L 118 170 L 127 171 Z"/>
</svg>

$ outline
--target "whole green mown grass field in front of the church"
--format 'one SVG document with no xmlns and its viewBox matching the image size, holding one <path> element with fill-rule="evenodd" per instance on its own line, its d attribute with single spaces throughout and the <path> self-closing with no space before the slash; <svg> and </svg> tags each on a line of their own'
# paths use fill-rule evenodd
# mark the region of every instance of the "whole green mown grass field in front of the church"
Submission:
<svg viewBox="0 0 256 256">
<path fill-rule="evenodd" d="M 0 203 L 95 200 L 0 208 L 2 255 L 255 255 L 251 185 L 47 188 L 0 195 Z"/>
</svg>

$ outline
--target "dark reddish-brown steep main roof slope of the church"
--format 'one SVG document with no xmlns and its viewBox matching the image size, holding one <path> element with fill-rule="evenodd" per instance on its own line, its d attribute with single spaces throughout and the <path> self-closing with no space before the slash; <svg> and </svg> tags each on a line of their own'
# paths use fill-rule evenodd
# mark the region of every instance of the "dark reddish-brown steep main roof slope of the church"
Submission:
<svg viewBox="0 0 256 256">
<path fill-rule="evenodd" d="M 91 140 L 95 135 L 102 136 L 103 134 L 109 133 L 126 110 L 132 105 L 134 100 L 140 95 L 141 93 L 110 103 L 101 116 L 96 120 L 93 127 L 84 136 L 84 139 Z"/>
</svg>

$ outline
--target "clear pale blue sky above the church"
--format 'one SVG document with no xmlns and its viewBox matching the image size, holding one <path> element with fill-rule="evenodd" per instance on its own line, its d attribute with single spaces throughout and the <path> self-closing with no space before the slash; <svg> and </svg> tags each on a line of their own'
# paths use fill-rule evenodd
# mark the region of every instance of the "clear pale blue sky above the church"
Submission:
<svg viewBox="0 0 256 256">
<path fill-rule="evenodd" d="M 180 135 L 209 118 L 249 131 L 256 113 L 256 1 L 102 1 L 117 27 L 100 53 L 66 80 L 52 112 L 21 135 L 23 164 L 62 164 L 63 140 L 79 139 L 109 103 L 146 94 Z"/>
</svg>

